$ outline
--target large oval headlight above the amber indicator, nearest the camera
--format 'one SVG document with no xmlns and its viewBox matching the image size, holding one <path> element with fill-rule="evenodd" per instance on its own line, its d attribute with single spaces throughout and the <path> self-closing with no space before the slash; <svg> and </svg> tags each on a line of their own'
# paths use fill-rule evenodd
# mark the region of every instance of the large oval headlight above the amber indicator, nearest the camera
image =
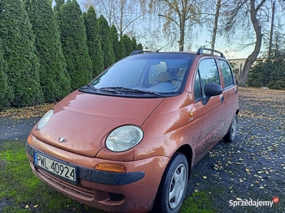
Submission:
<svg viewBox="0 0 285 213">
<path fill-rule="evenodd" d="M 142 141 L 143 131 L 138 126 L 126 125 L 113 130 L 107 137 L 105 145 L 113 152 L 127 151 Z"/>
</svg>

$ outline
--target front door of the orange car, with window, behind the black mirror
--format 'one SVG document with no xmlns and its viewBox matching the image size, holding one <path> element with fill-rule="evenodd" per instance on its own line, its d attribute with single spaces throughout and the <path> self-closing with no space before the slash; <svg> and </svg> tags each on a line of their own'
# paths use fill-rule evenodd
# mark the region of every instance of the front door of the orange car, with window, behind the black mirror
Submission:
<svg viewBox="0 0 285 213">
<path fill-rule="evenodd" d="M 211 97 L 206 105 L 202 104 L 205 97 L 204 85 L 209 83 L 221 85 L 219 70 L 214 58 L 203 58 L 199 61 L 193 88 L 195 114 L 199 115 L 199 123 L 204 127 L 204 130 L 197 132 L 204 135 L 199 136 L 202 140 L 196 141 L 195 161 L 202 158 L 222 138 L 223 94 Z"/>
</svg>

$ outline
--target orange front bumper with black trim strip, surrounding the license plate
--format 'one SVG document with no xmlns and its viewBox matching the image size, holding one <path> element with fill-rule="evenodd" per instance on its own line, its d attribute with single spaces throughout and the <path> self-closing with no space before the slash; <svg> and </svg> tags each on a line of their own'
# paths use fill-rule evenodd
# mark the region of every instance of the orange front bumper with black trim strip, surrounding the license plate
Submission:
<svg viewBox="0 0 285 213">
<path fill-rule="evenodd" d="M 78 183 L 52 175 L 33 164 L 33 151 L 40 151 L 78 167 Z M 51 187 L 83 204 L 106 212 L 147 212 L 152 209 L 157 188 L 169 158 L 155 156 L 145 160 L 118 162 L 90 158 L 38 141 L 26 143 L 26 153 L 33 173 Z M 128 173 L 110 173 L 95 170 L 98 163 L 125 165 Z M 82 166 L 84 165 L 84 166 Z M 86 166 L 87 165 L 87 166 Z"/>
</svg>

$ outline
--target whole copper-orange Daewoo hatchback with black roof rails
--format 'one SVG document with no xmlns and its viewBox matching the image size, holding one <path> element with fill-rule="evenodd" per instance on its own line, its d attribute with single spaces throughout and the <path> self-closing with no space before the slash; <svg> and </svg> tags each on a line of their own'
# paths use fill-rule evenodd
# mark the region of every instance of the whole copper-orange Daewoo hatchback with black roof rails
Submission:
<svg viewBox="0 0 285 213">
<path fill-rule="evenodd" d="M 28 136 L 33 173 L 106 212 L 177 212 L 191 168 L 236 134 L 232 69 L 204 50 L 135 51 L 69 94 Z"/>
</svg>

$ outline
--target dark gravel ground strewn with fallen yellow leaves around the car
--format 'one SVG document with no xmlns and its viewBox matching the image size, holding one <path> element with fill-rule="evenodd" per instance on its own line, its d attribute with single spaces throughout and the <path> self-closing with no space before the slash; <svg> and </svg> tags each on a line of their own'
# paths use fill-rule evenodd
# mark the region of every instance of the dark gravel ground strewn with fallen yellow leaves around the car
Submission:
<svg viewBox="0 0 285 213">
<path fill-rule="evenodd" d="M 214 212 L 285 212 L 285 91 L 240 88 L 239 94 L 236 139 L 220 141 L 192 168 L 186 197 L 207 192 Z M 39 119 L 1 116 L 0 142 L 25 142 Z M 273 207 L 230 206 L 273 197 L 280 200 Z"/>
</svg>

